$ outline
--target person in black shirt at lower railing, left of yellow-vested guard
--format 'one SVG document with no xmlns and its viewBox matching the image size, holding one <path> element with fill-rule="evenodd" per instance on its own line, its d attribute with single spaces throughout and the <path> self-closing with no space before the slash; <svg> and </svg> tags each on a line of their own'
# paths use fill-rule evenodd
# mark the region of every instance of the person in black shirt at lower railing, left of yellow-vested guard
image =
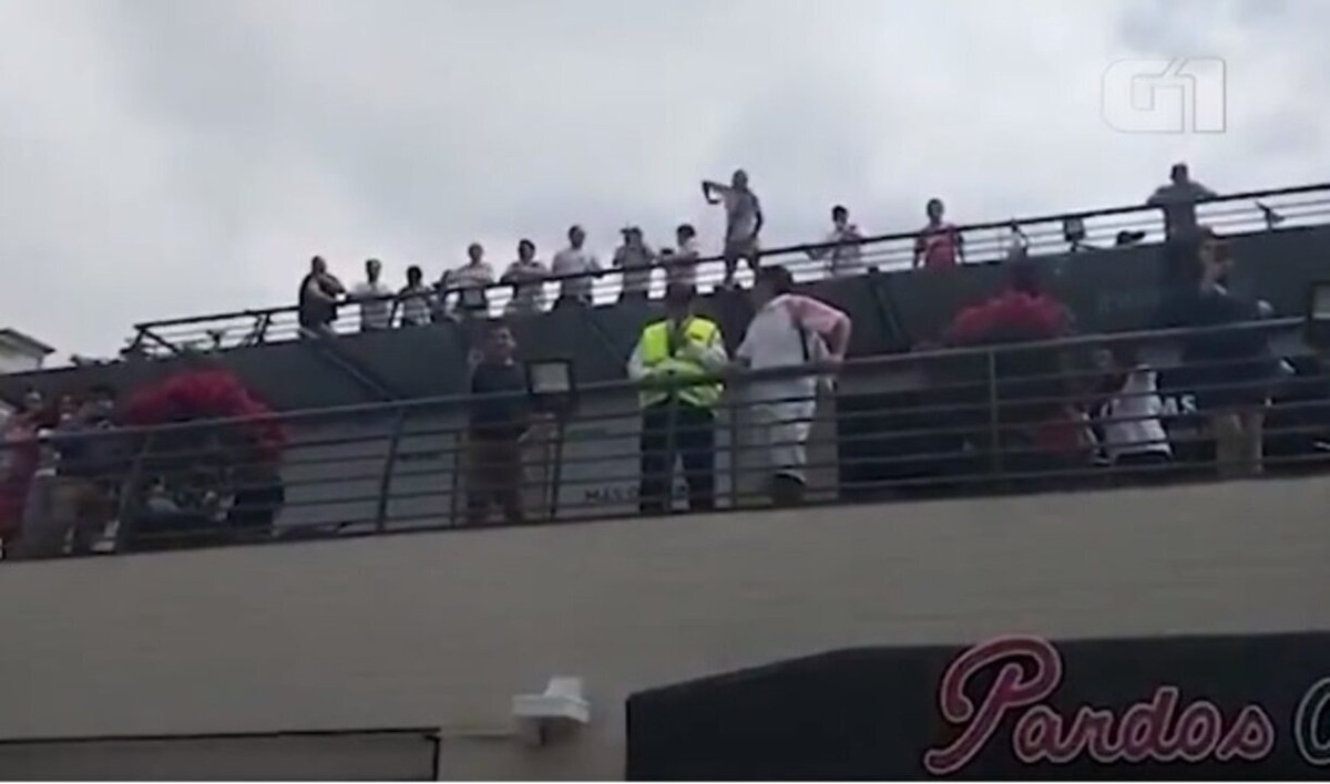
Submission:
<svg viewBox="0 0 1330 784">
<path fill-rule="evenodd" d="M 513 360 L 516 342 L 503 323 L 489 327 L 484 353 L 471 375 L 467 432 L 467 524 L 485 525 L 497 505 L 504 521 L 521 512 L 521 437 L 531 424 L 527 375 Z"/>
</svg>

